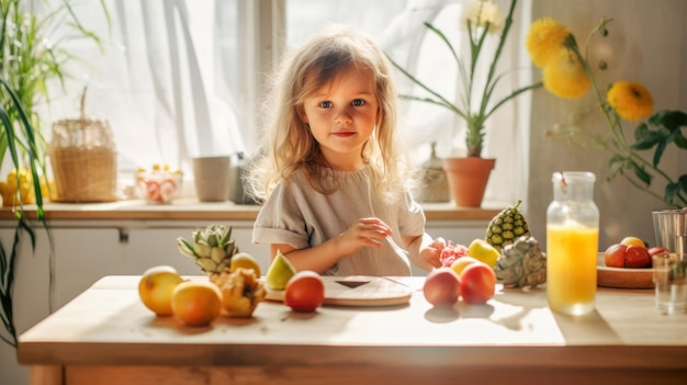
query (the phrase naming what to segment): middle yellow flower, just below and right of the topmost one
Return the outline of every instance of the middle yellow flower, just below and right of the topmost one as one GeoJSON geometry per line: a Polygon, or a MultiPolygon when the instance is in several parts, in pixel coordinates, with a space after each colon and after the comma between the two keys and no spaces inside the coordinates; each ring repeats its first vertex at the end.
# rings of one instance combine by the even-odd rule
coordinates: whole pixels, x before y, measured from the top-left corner
{"type": "Polygon", "coordinates": [[[544,88],[559,98],[579,98],[589,89],[589,77],[577,56],[567,48],[559,49],[543,72],[544,88]]]}

